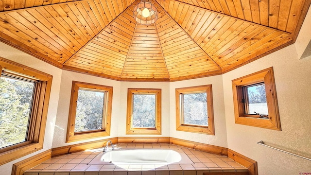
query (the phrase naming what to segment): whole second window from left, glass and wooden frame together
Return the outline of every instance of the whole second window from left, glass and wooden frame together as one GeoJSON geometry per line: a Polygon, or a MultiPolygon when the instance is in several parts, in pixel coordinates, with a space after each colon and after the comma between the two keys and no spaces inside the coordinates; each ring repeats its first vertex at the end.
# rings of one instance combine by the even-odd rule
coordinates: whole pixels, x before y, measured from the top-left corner
{"type": "Polygon", "coordinates": [[[66,142],[110,135],[113,87],[72,82],[66,142]]]}

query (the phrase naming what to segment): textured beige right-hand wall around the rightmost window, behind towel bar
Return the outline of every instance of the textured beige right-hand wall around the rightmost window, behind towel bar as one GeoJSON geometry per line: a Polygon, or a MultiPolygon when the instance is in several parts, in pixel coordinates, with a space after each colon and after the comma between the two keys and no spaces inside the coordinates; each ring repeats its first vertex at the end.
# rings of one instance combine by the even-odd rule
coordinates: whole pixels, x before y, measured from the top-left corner
{"type": "MultiPolygon", "coordinates": [[[[311,36],[309,25],[303,25],[309,27],[305,37],[311,36]]],[[[310,160],[257,144],[263,140],[311,158],[311,57],[299,60],[296,47],[305,45],[298,42],[223,75],[228,148],[258,161],[259,175],[311,173],[310,160]],[[235,124],[231,81],[269,67],[274,68],[282,131],[235,124]]]]}

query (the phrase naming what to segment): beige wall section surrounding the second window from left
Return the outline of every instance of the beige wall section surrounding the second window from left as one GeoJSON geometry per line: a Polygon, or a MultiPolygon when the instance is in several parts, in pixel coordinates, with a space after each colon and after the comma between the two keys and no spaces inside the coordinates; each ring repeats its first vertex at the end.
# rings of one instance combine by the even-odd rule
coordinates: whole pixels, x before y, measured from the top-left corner
{"type": "Polygon", "coordinates": [[[109,80],[109,79],[104,79],[104,78],[91,76],[87,74],[63,70],[62,77],[61,77],[61,86],[60,86],[61,88],[59,92],[58,111],[57,111],[57,118],[55,122],[55,131],[54,131],[54,138],[52,142],[52,148],[81,143],[81,142],[117,137],[118,130],[116,128],[118,128],[118,125],[119,125],[118,116],[120,116],[119,115],[120,84],[121,83],[119,81],[115,81],[115,80],[109,80]],[[92,84],[97,84],[97,85],[105,85],[105,86],[113,87],[110,136],[65,143],[66,134],[67,134],[67,123],[68,123],[68,116],[69,116],[69,104],[70,104],[72,81],[80,81],[80,82],[85,82],[85,83],[92,83],[92,84]]]}

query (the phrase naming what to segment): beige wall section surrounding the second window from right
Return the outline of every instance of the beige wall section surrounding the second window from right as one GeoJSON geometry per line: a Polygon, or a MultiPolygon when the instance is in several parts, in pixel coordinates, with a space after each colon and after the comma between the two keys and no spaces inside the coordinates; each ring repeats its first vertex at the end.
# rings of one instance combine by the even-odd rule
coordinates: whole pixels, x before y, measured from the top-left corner
{"type": "Polygon", "coordinates": [[[177,139],[196,141],[216,146],[227,147],[226,124],[225,124],[225,105],[222,75],[197,78],[192,80],[178,81],[170,83],[170,136],[177,139]],[[214,110],[214,126],[215,135],[206,135],[198,133],[190,133],[184,131],[176,131],[176,105],[175,105],[175,89],[212,85],[213,93],[213,110],[214,110]]]}

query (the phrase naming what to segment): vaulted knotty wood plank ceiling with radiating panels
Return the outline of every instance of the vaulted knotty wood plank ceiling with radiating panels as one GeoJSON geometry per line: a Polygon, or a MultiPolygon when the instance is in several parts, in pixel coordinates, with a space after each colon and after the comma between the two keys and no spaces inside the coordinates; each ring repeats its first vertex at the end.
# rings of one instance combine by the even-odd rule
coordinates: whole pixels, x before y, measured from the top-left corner
{"type": "Polygon", "coordinates": [[[222,74],[294,43],[311,0],[0,0],[0,40],[64,70],[119,81],[222,74]]]}

